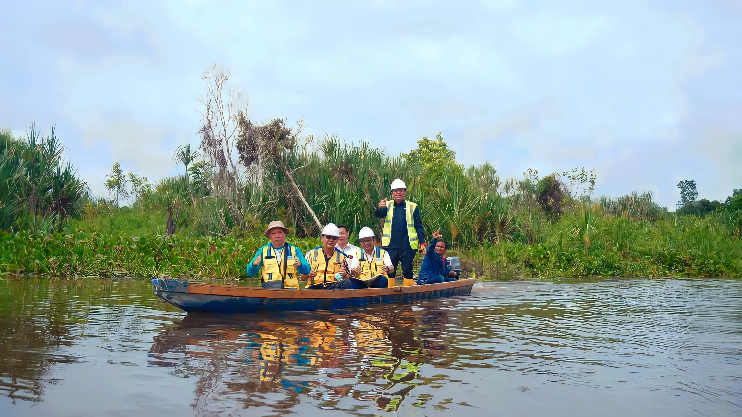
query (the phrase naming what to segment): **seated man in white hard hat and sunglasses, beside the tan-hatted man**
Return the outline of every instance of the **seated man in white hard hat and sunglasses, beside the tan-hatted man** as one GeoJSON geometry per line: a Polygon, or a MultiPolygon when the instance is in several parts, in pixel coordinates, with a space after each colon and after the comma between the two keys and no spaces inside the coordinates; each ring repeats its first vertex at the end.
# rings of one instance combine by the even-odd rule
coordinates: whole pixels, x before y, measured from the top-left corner
{"type": "Polygon", "coordinates": [[[307,289],[352,289],[348,280],[347,255],[336,248],[340,237],[338,226],[327,224],[322,229],[322,246],[306,252],[309,262],[309,274],[302,275],[308,279],[307,289]]]}

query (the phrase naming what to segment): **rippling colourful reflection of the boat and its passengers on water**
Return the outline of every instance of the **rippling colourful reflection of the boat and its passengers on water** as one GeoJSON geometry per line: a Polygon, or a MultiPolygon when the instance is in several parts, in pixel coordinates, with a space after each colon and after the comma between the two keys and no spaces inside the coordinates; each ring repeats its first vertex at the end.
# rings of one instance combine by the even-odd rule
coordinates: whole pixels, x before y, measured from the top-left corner
{"type": "MultiPolygon", "coordinates": [[[[446,348],[441,329],[448,322],[442,301],[427,309],[394,312],[188,315],[154,338],[148,363],[174,375],[198,378],[197,413],[235,407],[289,410],[301,396],[336,409],[343,398],[373,401],[397,410],[415,387],[438,384],[419,375],[422,364],[438,361],[446,348]]],[[[443,375],[444,376],[444,375],[443,375]]],[[[354,401],[354,402],[355,402],[354,401]]],[[[417,404],[424,404],[421,398],[417,404]]]]}

